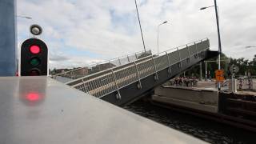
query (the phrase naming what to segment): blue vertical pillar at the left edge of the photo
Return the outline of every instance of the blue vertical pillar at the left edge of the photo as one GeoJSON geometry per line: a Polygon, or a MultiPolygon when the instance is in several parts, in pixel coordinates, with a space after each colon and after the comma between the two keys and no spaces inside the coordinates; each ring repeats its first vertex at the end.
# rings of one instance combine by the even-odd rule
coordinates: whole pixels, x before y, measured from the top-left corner
{"type": "Polygon", "coordinates": [[[17,72],[16,1],[0,1],[0,76],[17,72]]]}

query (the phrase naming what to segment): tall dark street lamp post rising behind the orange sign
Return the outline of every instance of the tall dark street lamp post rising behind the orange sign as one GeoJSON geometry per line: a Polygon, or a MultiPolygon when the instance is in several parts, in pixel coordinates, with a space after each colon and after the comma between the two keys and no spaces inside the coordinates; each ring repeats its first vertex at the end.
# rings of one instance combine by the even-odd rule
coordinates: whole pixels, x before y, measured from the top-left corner
{"type": "MultiPolygon", "coordinates": [[[[217,0],[214,0],[214,6],[202,7],[200,10],[205,10],[207,8],[214,7],[217,21],[217,30],[218,30],[218,70],[221,70],[221,54],[222,54],[222,41],[221,34],[219,30],[219,19],[218,19],[218,6],[217,0]]],[[[221,90],[220,82],[218,82],[218,90],[221,90]]]]}

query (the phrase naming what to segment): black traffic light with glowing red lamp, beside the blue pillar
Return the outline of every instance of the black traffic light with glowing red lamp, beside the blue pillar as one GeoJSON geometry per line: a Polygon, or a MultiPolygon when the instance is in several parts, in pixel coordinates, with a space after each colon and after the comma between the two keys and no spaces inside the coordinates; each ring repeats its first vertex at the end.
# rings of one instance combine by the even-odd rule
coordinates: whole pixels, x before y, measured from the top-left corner
{"type": "Polygon", "coordinates": [[[21,76],[47,75],[48,48],[38,38],[29,38],[22,43],[21,76]]]}

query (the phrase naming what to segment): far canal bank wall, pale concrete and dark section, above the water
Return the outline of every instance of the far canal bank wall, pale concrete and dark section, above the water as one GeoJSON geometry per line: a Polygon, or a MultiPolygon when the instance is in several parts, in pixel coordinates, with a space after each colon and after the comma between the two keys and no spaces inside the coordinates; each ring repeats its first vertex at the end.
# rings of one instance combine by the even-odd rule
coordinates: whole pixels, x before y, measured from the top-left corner
{"type": "Polygon", "coordinates": [[[256,132],[256,92],[218,92],[214,85],[209,86],[210,82],[202,83],[197,87],[158,86],[150,102],[256,132]]]}

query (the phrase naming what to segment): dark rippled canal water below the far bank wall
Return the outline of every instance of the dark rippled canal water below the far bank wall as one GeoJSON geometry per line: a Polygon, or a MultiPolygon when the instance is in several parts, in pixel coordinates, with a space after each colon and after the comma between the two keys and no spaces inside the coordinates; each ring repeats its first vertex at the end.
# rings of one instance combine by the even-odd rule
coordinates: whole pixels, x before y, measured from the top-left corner
{"type": "Polygon", "coordinates": [[[150,102],[138,101],[124,108],[206,142],[223,144],[256,143],[256,134],[252,132],[154,106],[150,102]]]}

